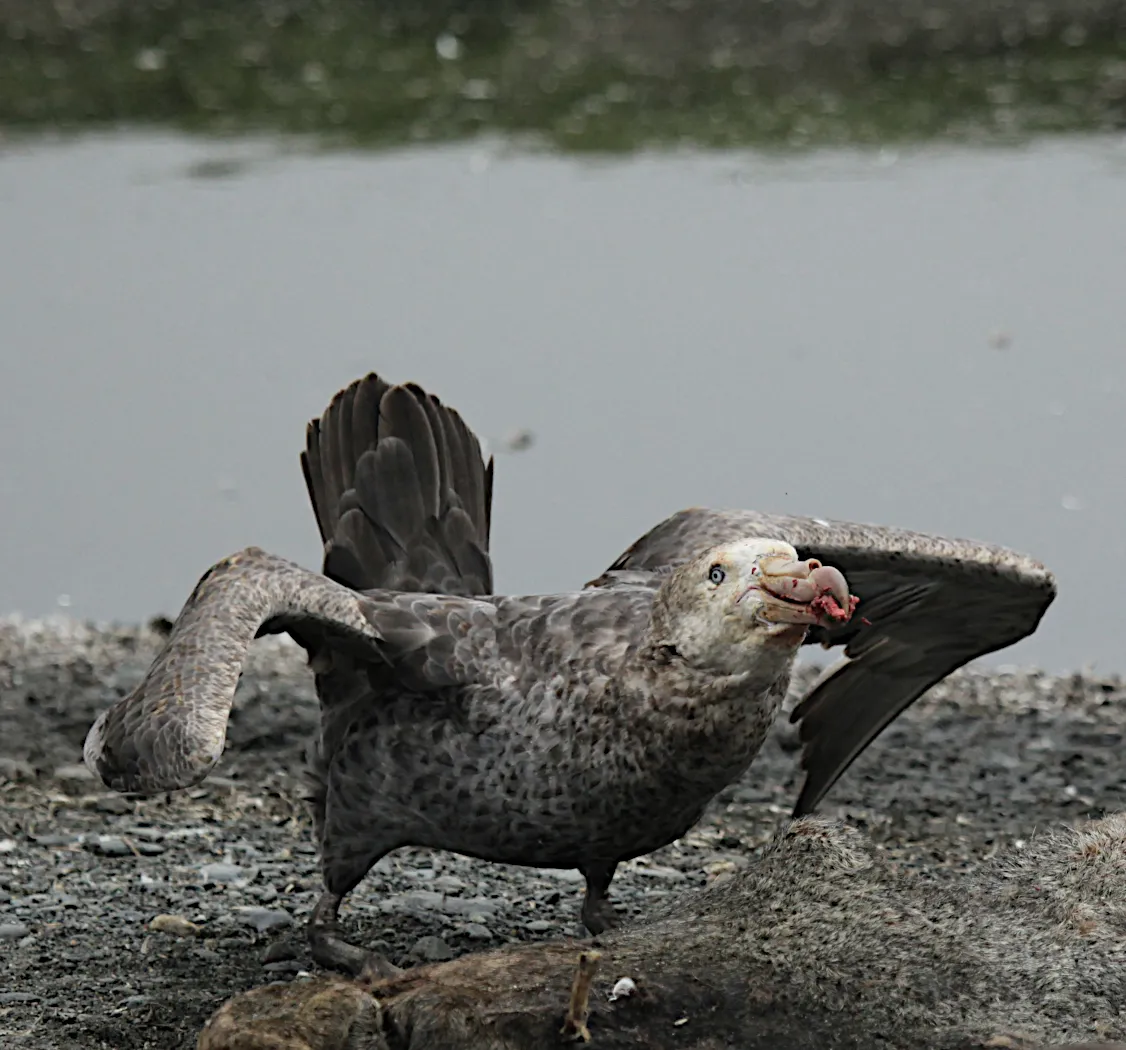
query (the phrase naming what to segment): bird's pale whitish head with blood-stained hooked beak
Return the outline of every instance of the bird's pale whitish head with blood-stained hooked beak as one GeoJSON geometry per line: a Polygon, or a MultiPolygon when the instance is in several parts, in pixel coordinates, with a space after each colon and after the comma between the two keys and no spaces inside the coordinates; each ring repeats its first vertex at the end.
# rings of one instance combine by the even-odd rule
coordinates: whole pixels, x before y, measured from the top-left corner
{"type": "Polygon", "coordinates": [[[763,650],[793,656],[811,625],[847,622],[858,599],[844,576],[787,542],[740,539],[674,569],[654,609],[654,640],[689,665],[740,674],[763,650]]]}

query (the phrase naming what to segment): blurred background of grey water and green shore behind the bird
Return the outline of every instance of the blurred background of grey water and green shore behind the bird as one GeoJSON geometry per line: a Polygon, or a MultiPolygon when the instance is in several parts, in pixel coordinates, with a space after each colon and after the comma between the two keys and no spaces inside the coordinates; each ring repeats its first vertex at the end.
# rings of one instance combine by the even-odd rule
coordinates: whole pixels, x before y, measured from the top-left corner
{"type": "Polygon", "coordinates": [[[690,504],[1004,544],[1126,670],[1126,0],[0,0],[0,616],[319,567],[375,369],[503,591],[690,504]]]}

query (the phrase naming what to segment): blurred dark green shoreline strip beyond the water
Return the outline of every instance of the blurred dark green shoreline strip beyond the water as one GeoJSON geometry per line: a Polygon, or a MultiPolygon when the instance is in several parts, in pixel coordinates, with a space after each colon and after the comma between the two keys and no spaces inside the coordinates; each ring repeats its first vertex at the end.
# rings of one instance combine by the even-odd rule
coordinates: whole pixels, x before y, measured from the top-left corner
{"type": "Polygon", "coordinates": [[[941,32],[913,0],[74,6],[0,0],[0,127],[622,151],[1126,126],[1126,0],[946,0],[941,32]]]}

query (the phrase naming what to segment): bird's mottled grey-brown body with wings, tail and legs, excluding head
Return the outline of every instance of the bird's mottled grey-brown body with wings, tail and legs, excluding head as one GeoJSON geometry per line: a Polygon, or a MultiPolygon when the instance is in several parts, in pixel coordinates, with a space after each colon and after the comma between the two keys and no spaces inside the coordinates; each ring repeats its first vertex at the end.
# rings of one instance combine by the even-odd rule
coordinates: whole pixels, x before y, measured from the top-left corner
{"type": "Polygon", "coordinates": [[[302,465],[323,575],[253,548],[218,563],[86,755],[118,790],[197,782],[222,753],[247,647],[293,635],[322,703],[314,949],[320,936],[319,958],[349,968],[327,931],[391,850],[578,868],[597,932],[615,865],[679,837],[742,774],[802,639],[700,641],[714,625],[691,620],[694,587],[712,548],[792,542],[842,568],[872,621],[810,630],[846,643],[849,663],[799,709],[803,811],[928,685],[1033,630],[1054,595],[1043,566],[1000,548],[705,510],[659,524],[581,591],[493,595],[491,460],[438,398],[375,375],[310,424],[302,465]]]}

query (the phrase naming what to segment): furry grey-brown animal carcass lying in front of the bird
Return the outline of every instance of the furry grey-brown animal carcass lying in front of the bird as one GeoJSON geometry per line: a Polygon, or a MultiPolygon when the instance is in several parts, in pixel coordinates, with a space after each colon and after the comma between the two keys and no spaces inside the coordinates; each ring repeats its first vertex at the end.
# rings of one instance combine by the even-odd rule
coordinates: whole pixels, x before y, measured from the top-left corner
{"type": "MultiPolygon", "coordinates": [[[[953,887],[856,831],[789,824],[745,871],[598,943],[598,1050],[1124,1050],[1126,815],[1040,834],[953,887]],[[637,991],[610,1003],[619,977],[637,991]],[[1085,1042],[1083,1040],[1087,1040],[1085,1042]]],[[[199,1050],[540,1050],[589,942],[518,945],[387,980],[236,996],[199,1050]]]]}

